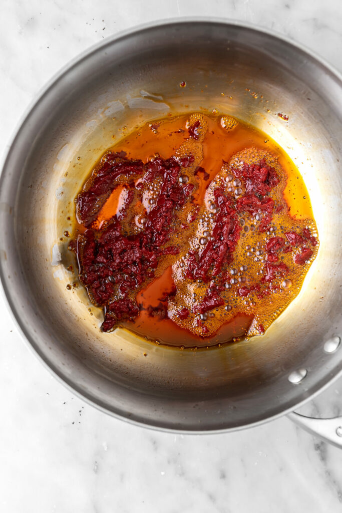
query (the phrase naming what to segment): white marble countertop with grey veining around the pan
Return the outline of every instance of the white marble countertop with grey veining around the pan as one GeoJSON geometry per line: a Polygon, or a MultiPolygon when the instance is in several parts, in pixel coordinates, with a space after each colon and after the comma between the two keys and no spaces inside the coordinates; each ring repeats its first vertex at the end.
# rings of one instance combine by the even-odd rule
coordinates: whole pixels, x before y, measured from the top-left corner
{"type": "MultiPolygon", "coordinates": [[[[339,0],[2,0],[0,153],[70,58],[153,19],[212,15],[289,35],[342,70],[339,0]]],[[[88,406],[27,349],[0,299],[0,511],[342,511],[342,451],[283,418],[215,436],[149,431],[88,406]]],[[[342,380],[303,411],[342,414],[342,380]]]]}

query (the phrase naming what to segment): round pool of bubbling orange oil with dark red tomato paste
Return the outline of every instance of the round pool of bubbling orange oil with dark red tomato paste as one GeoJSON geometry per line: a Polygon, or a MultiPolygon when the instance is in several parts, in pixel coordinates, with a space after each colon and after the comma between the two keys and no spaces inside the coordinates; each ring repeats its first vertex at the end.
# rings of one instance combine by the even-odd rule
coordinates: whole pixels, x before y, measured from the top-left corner
{"type": "Polygon", "coordinates": [[[75,199],[71,248],[102,330],[179,346],[263,334],[317,254],[308,198],[287,155],[230,116],[140,127],[75,199]]]}

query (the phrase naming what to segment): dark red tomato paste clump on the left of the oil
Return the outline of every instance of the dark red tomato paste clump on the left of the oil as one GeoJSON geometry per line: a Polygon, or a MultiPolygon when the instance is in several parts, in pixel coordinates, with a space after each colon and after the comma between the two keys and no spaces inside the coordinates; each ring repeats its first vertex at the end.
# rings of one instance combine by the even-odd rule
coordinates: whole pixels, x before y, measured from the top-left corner
{"type": "MultiPolygon", "coordinates": [[[[115,327],[118,321],[132,320],[138,314],[138,306],[132,291],[138,289],[147,278],[153,278],[154,269],[160,257],[177,254],[178,248],[166,246],[172,233],[172,223],[177,210],[189,197],[189,187],[182,185],[178,177],[181,168],[186,168],[191,158],[164,160],[160,157],[153,162],[129,161],[122,154],[110,155],[101,167],[88,190],[77,198],[77,216],[86,226],[95,219],[98,194],[102,200],[108,197],[115,187],[118,176],[140,176],[134,193],[142,183],[151,183],[162,178],[155,206],[147,215],[145,229],[133,235],[123,233],[118,215],[114,215],[102,231],[88,228],[77,240],[76,253],[81,264],[81,279],[91,298],[97,305],[106,306],[104,331],[115,327]],[[102,198],[103,196],[103,198],[102,198]]],[[[120,215],[124,215],[120,210],[120,215]]],[[[184,317],[185,311],[182,312],[184,317]]]]}

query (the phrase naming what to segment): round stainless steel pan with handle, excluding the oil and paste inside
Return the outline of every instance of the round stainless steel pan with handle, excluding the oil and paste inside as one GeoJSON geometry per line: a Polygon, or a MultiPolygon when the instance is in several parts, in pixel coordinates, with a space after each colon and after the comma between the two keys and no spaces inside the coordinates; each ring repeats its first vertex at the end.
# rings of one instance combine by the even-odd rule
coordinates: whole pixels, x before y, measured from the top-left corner
{"type": "MultiPolygon", "coordinates": [[[[25,338],[75,392],[131,422],[230,431],[294,410],[342,368],[341,141],[341,77],[270,32],[185,19],[92,48],[41,94],[1,177],[1,280],[25,338]],[[214,108],[264,130],[304,177],[320,246],[303,288],[263,337],[222,348],[182,351],[125,330],[102,333],[102,312],[81,286],[67,288],[76,282],[64,235],[73,199],[123,131],[214,108]]],[[[342,418],[291,418],[342,446],[342,418]]]]}

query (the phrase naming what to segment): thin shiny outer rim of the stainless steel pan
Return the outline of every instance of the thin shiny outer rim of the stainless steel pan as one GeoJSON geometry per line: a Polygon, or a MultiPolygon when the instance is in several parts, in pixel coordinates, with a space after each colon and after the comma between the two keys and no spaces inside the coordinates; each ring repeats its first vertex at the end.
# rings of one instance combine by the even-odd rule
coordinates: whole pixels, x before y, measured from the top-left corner
{"type": "MultiPolygon", "coordinates": [[[[277,32],[275,32],[273,30],[258,27],[251,23],[232,21],[230,19],[217,18],[217,17],[207,18],[204,16],[197,16],[197,17],[187,16],[187,17],[182,17],[182,18],[161,19],[159,21],[153,21],[153,22],[142,24],[142,25],[138,25],[133,28],[130,28],[130,29],[127,29],[124,31],[120,31],[117,34],[111,35],[111,36],[107,37],[105,40],[103,40],[95,45],[92,45],[90,48],[88,48],[84,52],[75,56],[69,63],[66,64],[66,66],[64,66],[57,73],[55,73],[50,78],[50,80],[47,82],[47,84],[35,95],[32,102],[30,103],[30,105],[28,106],[25,113],[23,114],[23,116],[21,117],[21,119],[19,120],[19,122],[17,124],[17,127],[14,131],[14,135],[12,136],[12,139],[9,143],[9,148],[8,148],[7,154],[5,151],[4,163],[2,165],[2,172],[0,175],[0,190],[2,189],[3,182],[5,179],[8,161],[10,159],[10,156],[15,151],[15,146],[17,144],[17,141],[21,137],[22,130],[24,129],[26,124],[29,122],[30,116],[33,113],[33,111],[35,111],[35,109],[37,108],[39,103],[42,102],[45,95],[47,95],[50,91],[53,90],[53,88],[56,86],[56,84],[58,83],[59,80],[61,80],[65,75],[67,75],[75,66],[77,66],[81,62],[87,60],[91,55],[95,54],[97,51],[103,50],[104,48],[106,48],[106,46],[111,46],[118,41],[122,41],[125,38],[129,38],[133,34],[149,31],[150,29],[160,28],[163,26],[171,27],[171,26],[176,26],[176,25],[183,25],[186,23],[221,25],[221,26],[225,26],[227,28],[237,27],[237,28],[252,30],[252,31],[255,31],[258,33],[263,33],[263,34],[266,34],[268,36],[275,38],[276,40],[281,40],[284,43],[286,43],[287,45],[289,45],[290,47],[294,47],[295,49],[303,52],[304,54],[309,55],[313,61],[315,61],[316,63],[319,64],[319,66],[323,69],[323,71],[329,72],[335,78],[335,80],[337,82],[339,82],[339,86],[342,88],[342,74],[338,70],[336,70],[330,63],[325,61],[322,57],[318,56],[315,52],[308,49],[304,45],[301,45],[297,42],[291,41],[290,38],[288,38],[282,34],[278,34],[277,32]]],[[[3,216],[6,214],[1,213],[0,215],[3,216]]],[[[271,420],[280,418],[280,417],[286,415],[287,413],[293,411],[294,409],[297,409],[299,406],[305,404],[309,400],[312,400],[317,394],[319,394],[325,388],[330,386],[330,384],[335,379],[337,379],[340,374],[340,370],[338,370],[338,367],[336,367],[336,373],[335,373],[335,369],[333,369],[332,370],[333,375],[331,376],[331,378],[323,386],[321,386],[315,392],[310,394],[309,397],[305,398],[302,401],[299,401],[293,407],[287,408],[285,410],[282,410],[282,411],[276,413],[273,416],[265,417],[259,421],[251,422],[249,424],[227,427],[227,428],[220,428],[220,429],[213,428],[213,429],[208,429],[208,430],[203,430],[203,429],[192,430],[192,429],[177,429],[174,427],[165,427],[165,425],[163,425],[163,422],[160,422],[160,425],[159,425],[158,422],[157,423],[156,422],[149,423],[148,419],[146,419],[145,421],[137,420],[133,416],[129,417],[127,413],[125,415],[125,412],[119,413],[118,409],[117,409],[117,411],[113,411],[113,410],[109,409],[108,407],[106,407],[105,403],[103,401],[96,399],[94,397],[94,394],[88,393],[81,386],[75,385],[72,382],[72,380],[70,380],[66,376],[64,376],[63,372],[61,370],[59,370],[54,365],[53,361],[50,360],[49,358],[47,358],[45,354],[43,354],[43,351],[41,351],[39,349],[34,338],[30,336],[28,330],[26,329],[25,323],[23,323],[21,321],[19,312],[16,309],[16,306],[14,304],[10,288],[6,285],[5,276],[4,276],[4,268],[3,268],[1,261],[0,261],[0,282],[2,283],[4,298],[6,298],[5,303],[7,304],[10,314],[12,315],[12,318],[15,321],[15,324],[19,330],[19,333],[21,334],[22,338],[25,340],[26,344],[30,347],[30,349],[36,354],[38,359],[41,360],[41,362],[44,364],[45,368],[49,369],[49,371],[52,372],[53,376],[57,379],[57,381],[63,383],[67,387],[67,389],[69,389],[70,391],[75,393],[77,397],[82,398],[88,404],[95,406],[98,410],[103,411],[103,412],[113,416],[116,419],[124,420],[126,422],[129,422],[130,424],[137,425],[140,427],[155,429],[155,430],[164,431],[164,432],[182,433],[182,434],[189,434],[189,435],[190,434],[192,434],[192,435],[194,435],[194,434],[208,435],[208,434],[216,434],[216,433],[225,433],[225,432],[230,432],[230,431],[238,431],[238,430],[242,430],[242,429],[246,429],[246,428],[256,427],[258,425],[264,424],[271,420]]]]}

